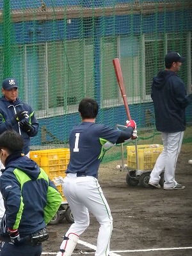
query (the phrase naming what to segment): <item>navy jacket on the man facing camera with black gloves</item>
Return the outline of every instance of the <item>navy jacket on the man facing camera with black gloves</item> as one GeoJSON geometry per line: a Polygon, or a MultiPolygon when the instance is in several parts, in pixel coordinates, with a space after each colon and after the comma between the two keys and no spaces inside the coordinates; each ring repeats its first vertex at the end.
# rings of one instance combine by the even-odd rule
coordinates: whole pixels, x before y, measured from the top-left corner
{"type": "Polygon", "coordinates": [[[34,137],[38,132],[38,121],[35,118],[35,113],[29,104],[22,102],[19,98],[15,102],[10,102],[5,97],[0,98],[0,134],[8,129],[13,129],[18,132],[24,140],[24,154],[28,154],[30,137],[34,137]],[[25,120],[33,127],[31,131],[22,131],[19,123],[15,120],[14,116],[19,111],[28,111],[28,118],[25,120]]]}

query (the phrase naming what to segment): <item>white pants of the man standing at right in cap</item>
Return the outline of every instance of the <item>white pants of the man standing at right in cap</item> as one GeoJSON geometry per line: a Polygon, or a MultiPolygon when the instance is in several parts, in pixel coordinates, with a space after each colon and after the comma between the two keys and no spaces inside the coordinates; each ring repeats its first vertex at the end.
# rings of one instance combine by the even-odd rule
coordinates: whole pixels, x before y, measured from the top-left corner
{"type": "Polygon", "coordinates": [[[150,173],[150,181],[154,184],[158,184],[160,174],[164,170],[164,188],[170,188],[177,185],[175,180],[175,168],[184,132],[161,132],[161,136],[164,149],[157,158],[154,169],[150,173]]]}

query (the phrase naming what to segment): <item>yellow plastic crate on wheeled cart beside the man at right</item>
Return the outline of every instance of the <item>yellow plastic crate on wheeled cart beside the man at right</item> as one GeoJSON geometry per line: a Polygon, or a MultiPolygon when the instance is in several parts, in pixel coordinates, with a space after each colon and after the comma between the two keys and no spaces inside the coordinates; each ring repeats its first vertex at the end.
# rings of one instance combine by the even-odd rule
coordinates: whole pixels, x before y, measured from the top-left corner
{"type": "MultiPolygon", "coordinates": [[[[163,145],[138,145],[138,170],[152,170],[157,157],[163,151],[163,145]]],[[[127,168],[136,170],[136,147],[127,146],[127,168]]]]}

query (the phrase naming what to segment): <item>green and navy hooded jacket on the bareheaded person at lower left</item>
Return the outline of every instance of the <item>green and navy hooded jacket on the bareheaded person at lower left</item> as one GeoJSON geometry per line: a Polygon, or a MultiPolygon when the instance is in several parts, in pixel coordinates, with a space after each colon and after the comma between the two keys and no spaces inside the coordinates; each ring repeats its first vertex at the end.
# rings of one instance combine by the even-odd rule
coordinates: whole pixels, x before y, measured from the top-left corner
{"type": "Polygon", "coordinates": [[[21,155],[17,152],[7,157],[0,177],[5,207],[1,234],[6,234],[7,228],[17,228],[24,237],[46,227],[58,211],[62,196],[47,173],[21,155]]]}

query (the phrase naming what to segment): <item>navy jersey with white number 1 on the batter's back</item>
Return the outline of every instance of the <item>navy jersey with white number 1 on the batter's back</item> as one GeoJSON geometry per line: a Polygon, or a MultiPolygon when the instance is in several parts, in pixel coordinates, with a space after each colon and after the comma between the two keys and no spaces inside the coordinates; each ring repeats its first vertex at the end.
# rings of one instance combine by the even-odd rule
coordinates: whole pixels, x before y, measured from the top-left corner
{"type": "Polygon", "coordinates": [[[132,127],[122,132],[104,124],[81,122],[69,136],[70,161],[66,173],[80,172],[93,177],[98,176],[102,145],[106,142],[122,143],[132,136],[132,127]]]}

